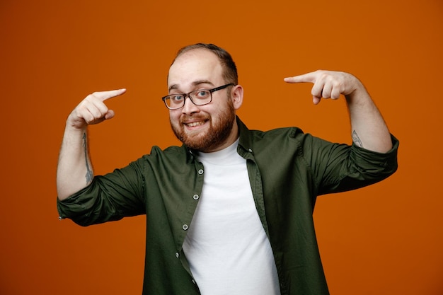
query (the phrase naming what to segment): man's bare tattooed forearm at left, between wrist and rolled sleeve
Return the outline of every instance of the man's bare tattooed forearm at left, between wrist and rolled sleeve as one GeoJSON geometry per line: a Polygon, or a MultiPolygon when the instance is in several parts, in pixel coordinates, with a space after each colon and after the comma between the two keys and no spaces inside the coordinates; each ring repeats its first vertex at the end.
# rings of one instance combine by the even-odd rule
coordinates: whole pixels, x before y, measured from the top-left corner
{"type": "Polygon", "coordinates": [[[88,153],[86,128],[64,132],[57,166],[57,195],[66,199],[91,183],[93,169],[88,153]]]}

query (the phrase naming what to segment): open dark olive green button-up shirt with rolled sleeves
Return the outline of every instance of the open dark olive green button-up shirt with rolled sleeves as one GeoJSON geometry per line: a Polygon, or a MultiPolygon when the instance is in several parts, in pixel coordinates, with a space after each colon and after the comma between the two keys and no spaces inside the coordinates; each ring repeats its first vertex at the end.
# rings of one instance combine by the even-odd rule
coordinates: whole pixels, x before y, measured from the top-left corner
{"type": "MultiPolygon", "coordinates": [[[[393,149],[381,154],[333,144],[297,127],[262,132],[237,122],[237,151],[246,159],[281,294],[328,294],[313,226],[316,197],[364,187],[394,173],[397,139],[391,137],[393,149]]],[[[57,208],[62,219],[81,226],[146,214],[143,294],[200,294],[182,245],[204,177],[205,167],[186,146],[154,146],[151,154],[57,200],[57,208]]]]}

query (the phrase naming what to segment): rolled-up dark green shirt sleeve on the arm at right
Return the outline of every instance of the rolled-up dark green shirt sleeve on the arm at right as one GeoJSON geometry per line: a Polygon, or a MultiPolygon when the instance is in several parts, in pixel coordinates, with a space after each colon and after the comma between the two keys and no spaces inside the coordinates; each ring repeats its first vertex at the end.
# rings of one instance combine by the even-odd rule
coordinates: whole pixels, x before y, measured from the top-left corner
{"type": "Polygon", "coordinates": [[[304,141],[304,157],[309,161],[318,195],[355,190],[388,178],[398,168],[398,139],[386,153],[369,151],[355,144],[332,144],[310,137],[304,141]]]}

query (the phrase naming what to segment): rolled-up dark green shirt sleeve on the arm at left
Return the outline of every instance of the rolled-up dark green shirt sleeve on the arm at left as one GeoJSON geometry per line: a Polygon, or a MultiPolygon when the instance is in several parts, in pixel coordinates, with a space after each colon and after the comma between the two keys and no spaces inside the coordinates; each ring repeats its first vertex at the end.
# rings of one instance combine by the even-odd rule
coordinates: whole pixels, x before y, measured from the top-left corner
{"type": "Polygon", "coordinates": [[[88,226],[145,214],[143,158],[125,168],[94,177],[92,183],[67,199],[57,199],[60,218],[88,226]]]}

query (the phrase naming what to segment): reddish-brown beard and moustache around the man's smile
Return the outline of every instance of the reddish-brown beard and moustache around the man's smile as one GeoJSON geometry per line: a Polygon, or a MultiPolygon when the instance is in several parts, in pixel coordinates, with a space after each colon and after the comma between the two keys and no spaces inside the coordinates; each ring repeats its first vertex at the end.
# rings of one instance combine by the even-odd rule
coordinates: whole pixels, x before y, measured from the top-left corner
{"type": "Polygon", "coordinates": [[[178,140],[183,142],[185,146],[196,151],[209,152],[214,151],[219,146],[222,146],[226,139],[232,132],[234,126],[234,120],[236,120],[235,109],[231,99],[227,100],[227,107],[217,115],[217,123],[212,121],[212,117],[209,115],[200,117],[195,116],[202,120],[209,122],[209,129],[205,132],[199,132],[198,134],[192,134],[192,132],[186,132],[183,122],[185,119],[189,119],[192,116],[180,117],[178,126],[174,126],[171,122],[171,128],[176,134],[178,140]]]}

